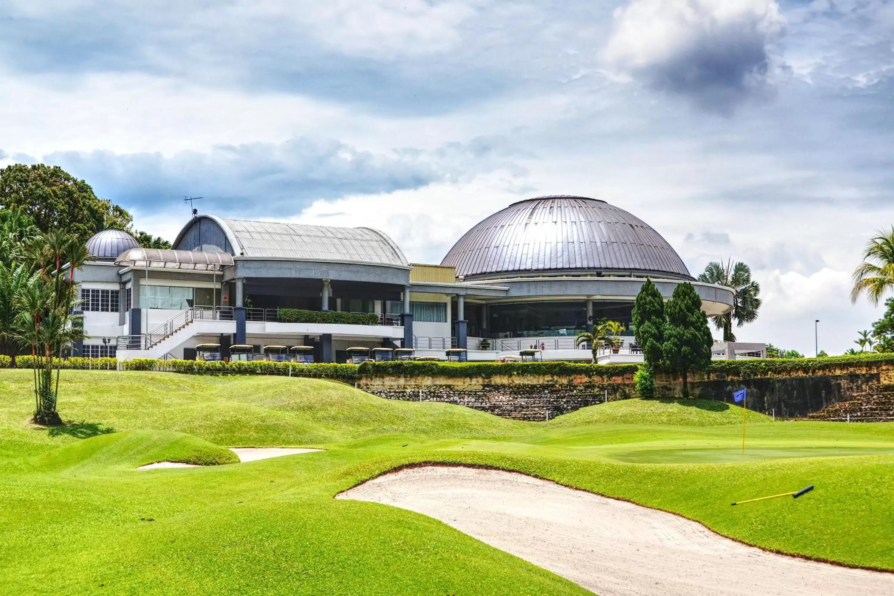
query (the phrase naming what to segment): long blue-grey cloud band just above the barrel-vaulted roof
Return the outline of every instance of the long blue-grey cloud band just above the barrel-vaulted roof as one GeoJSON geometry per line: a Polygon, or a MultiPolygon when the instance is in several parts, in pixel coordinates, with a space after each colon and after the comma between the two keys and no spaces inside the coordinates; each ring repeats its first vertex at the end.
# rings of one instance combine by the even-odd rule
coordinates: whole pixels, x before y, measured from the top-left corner
{"type": "MultiPolygon", "coordinates": [[[[499,139],[490,141],[499,147],[499,139]]],[[[46,164],[60,165],[87,180],[97,196],[138,211],[164,210],[184,195],[206,197],[225,214],[288,216],[316,199],[418,189],[441,180],[515,167],[480,143],[451,144],[434,152],[412,149],[374,154],[335,140],[297,138],[282,144],[220,145],[208,152],[117,154],[56,152],[46,164]]],[[[21,161],[34,161],[21,160],[21,161]]]]}

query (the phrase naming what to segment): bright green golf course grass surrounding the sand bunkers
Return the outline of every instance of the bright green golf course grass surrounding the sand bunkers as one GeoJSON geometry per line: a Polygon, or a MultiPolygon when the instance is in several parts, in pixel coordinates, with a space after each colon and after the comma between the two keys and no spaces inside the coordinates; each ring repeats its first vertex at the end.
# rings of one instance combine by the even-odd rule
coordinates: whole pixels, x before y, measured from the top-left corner
{"type": "Polygon", "coordinates": [[[561,594],[573,583],[398,508],[333,496],[395,466],[498,466],[767,549],[894,569],[894,424],[631,399],[549,423],[337,382],[65,371],[60,428],[0,371],[0,593],[561,594]],[[244,464],[225,447],[316,447],[244,464]],[[162,460],[198,468],[137,471],[162,460]],[[814,484],[800,499],[730,503],[814,484]]]}

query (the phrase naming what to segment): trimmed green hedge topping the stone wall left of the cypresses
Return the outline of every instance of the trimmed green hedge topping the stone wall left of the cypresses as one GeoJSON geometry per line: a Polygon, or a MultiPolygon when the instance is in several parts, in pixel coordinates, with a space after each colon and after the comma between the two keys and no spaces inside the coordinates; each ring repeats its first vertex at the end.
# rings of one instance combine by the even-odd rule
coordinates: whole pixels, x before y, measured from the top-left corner
{"type": "Polygon", "coordinates": [[[619,377],[636,374],[639,365],[587,365],[570,362],[392,362],[368,361],[359,374],[368,376],[433,376],[488,379],[498,375],[549,374],[552,376],[619,377]]]}

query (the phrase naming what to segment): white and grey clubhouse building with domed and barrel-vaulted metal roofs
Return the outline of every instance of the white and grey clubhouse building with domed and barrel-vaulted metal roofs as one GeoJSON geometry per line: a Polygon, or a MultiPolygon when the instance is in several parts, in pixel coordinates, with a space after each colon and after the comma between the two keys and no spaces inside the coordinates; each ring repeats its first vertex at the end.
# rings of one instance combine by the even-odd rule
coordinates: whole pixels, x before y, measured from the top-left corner
{"type": "MultiPolygon", "coordinates": [[[[695,281],[648,224],[586,197],[510,205],[441,264],[410,264],[370,228],[207,214],[186,222],[171,249],[140,248],[118,230],[99,232],[88,248],[93,260],[76,279],[89,337],[74,351],[89,357],[189,359],[197,346],[219,344],[223,357],[235,345],[305,346],[317,362],[344,362],[355,347],[442,358],[465,348],[470,360],[534,348],[547,359],[589,360],[575,335],[603,318],[627,326],[646,278],[666,298],[691,282],[708,315],[733,301],[733,290],[695,281]]],[[[618,343],[611,361],[637,361],[632,332],[618,343]]]]}

